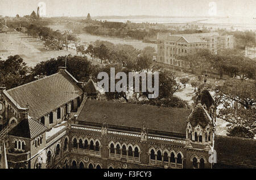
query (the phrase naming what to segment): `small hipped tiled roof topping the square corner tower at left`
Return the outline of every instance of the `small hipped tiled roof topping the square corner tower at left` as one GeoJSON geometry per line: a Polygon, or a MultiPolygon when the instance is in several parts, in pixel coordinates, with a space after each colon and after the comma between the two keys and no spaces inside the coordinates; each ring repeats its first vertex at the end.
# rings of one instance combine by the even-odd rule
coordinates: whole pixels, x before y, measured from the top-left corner
{"type": "Polygon", "coordinates": [[[19,124],[17,124],[11,131],[9,135],[17,137],[26,137],[33,139],[34,137],[40,135],[47,130],[47,127],[42,123],[39,123],[33,118],[23,119],[19,124]]]}

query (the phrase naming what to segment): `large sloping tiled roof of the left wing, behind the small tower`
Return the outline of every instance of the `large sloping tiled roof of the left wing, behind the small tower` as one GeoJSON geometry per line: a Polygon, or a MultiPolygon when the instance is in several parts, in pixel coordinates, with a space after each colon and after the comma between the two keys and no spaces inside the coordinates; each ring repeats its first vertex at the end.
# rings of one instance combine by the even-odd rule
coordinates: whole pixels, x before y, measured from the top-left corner
{"type": "Polygon", "coordinates": [[[79,97],[82,90],[67,73],[61,72],[7,90],[7,93],[20,107],[26,108],[28,103],[28,115],[38,119],[79,97]]]}

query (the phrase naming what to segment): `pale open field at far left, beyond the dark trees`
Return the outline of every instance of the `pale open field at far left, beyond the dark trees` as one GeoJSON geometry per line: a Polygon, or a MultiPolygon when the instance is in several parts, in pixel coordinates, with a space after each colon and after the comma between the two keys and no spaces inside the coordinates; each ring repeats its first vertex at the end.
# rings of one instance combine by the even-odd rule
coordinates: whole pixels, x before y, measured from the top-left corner
{"type": "Polygon", "coordinates": [[[42,41],[22,34],[0,34],[0,57],[6,60],[8,56],[20,55],[28,66],[35,66],[40,61],[68,55],[69,51],[47,51],[42,41]]]}

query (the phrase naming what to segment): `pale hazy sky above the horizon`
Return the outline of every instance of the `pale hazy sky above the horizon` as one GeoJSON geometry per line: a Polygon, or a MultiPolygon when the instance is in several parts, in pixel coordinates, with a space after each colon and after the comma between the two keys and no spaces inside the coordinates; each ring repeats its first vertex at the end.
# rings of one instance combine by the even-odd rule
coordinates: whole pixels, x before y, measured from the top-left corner
{"type": "Polygon", "coordinates": [[[0,0],[0,15],[28,15],[36,12],[40,2],[46,5],[48,17],[86,16],[88,12],[91,16],[256,17],[255,0],[0,0]]]}

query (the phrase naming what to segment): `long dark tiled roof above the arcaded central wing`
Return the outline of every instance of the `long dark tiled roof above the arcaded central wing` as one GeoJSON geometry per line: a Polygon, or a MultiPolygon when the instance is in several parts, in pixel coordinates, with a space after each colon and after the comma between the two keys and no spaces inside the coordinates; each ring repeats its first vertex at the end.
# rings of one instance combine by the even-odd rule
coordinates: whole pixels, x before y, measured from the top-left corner
{"type": "Polygon", "coordinates": [[[185,137],[186,120],[191,110],[151,105],[117,103],[87,99],[78,119],[80,124],[102,125],[104,116],[109,128],[141,132],[143,122],[148,133],[185,137]]]}

